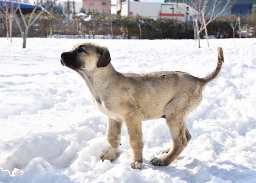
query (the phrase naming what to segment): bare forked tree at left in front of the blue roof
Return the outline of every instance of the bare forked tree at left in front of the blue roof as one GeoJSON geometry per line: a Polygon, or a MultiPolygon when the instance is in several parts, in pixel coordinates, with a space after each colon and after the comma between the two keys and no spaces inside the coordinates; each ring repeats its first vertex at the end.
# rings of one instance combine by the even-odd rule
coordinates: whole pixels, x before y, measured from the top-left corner
{"type": "Polygon", "coordinates": [[[38,18],[41,16],[42,13],[44,13],[44,11],[49,8],[49,6],[51,6],[53,3],[55,3],[57,0],[53,0],[52,3],[49,3],[47,5],[47,7],[42,8],[42,10],[36,14],[36,11],[38,9],[38,7],[41,5],[41,3],[43,2],[42,0],[39,0],[38,3],[35,3],[34,1],[34,4],[35,4],[35,8],[33,9],[32,13],[29,15],[29,19],[28,21],[26,21],[22,11],[21,11],[21,8],[20,8],[20,2],[18,0],[16,0],[16,3],[17,3],[17,6],[18,6],[18,10],[20,12],[20,17],[21,17],[21,20],[23,21],[23,24],[25,26],[25,31],[23,31],[23,28],[20,24],[20,21],[18,20],[18,17],[17,17],[17,14],[15,14],[15,21],[20,29],[20,34],[23,38],[23,46],[22,48],[26,48],[26,39],[28,37],[28,34],[29,34],[29,28],[38,20],[38,18]]]}

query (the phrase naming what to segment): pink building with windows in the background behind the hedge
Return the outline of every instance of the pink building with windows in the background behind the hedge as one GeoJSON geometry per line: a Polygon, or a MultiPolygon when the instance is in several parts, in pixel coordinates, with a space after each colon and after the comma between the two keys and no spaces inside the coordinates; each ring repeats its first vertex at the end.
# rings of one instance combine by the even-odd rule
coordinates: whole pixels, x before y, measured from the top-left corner
{"type": "Polygon", "coordinates": [[[86,12],[90,9],[90,11],[100,10],[111,14],[111,0],[83,0],[83,8],[86,12]]]}

